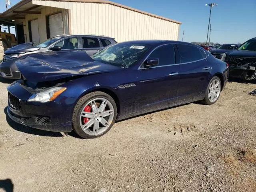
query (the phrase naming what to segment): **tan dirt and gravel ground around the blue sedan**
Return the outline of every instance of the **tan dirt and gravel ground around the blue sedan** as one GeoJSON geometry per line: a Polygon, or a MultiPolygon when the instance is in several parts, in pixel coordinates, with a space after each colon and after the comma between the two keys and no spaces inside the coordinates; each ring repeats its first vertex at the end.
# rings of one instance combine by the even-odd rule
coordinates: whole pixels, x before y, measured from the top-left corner
{"type": "Polygon", "coordinates": [[[12,122],[7,86],[0,83],[0,191],[256,191],[255,82],[229,82],[212,106],[117,122],[93,140],[12,122]]]}

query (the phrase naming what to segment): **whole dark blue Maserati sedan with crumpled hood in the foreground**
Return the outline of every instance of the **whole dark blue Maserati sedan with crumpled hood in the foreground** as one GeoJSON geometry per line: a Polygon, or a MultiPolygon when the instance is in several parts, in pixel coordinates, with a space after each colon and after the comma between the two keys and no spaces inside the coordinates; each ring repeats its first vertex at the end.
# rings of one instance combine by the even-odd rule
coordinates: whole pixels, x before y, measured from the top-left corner
{"type": "Polygon", "coordinates": [[[228,78],[228,65],[203,48],[167,40],[123,42],[91,57],[37,54],[16,65],[24,79],[8,86],[10,118],[83,138],[139,114],[197,100],[214,104],[228,78]]]}

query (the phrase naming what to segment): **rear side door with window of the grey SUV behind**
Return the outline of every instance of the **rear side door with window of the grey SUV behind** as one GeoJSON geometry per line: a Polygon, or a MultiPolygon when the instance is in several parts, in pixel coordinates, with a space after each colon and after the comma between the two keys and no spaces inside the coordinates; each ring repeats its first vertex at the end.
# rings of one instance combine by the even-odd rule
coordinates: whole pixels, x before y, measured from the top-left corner
{"type": "Polygon", "coordinates": [[[81,37],[80,47],[80,50],[86,51],[89,56],[103,49],[98,38],[86,36],[81,37]]]}

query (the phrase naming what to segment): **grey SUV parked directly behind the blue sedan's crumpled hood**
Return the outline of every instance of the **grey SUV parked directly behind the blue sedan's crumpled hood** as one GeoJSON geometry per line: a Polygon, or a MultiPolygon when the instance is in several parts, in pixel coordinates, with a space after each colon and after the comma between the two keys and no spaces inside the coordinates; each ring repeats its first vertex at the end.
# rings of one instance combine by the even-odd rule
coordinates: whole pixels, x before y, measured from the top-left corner
{"type": "Polygon", "coordinates": [[[31,54],[47,54],[47,52],[53,51],[85,51],[90,56],[113,44],[116,44],[114,38],[85,34],[59,35],[34,46],[32,43],[19,44],[4,52],[5,56],[0,64],[0,74],[4,78],[20,79],[20,71],[15,62],[31,54]]]}

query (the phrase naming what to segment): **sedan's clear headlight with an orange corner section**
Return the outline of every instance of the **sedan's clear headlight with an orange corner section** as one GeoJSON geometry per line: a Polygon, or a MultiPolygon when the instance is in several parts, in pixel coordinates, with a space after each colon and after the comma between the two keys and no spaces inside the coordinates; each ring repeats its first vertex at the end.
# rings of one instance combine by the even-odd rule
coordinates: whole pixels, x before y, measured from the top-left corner
{"type": "Polygon", "coordinates": [[[50,88],[46,91],[42,91],[40,93],[32,95],[28,102],[34,101],[34,102],[49,102],[54,100],[56,97],[58,97],[62,92],[64,92],[67,88],[66,87],[54,87],[50,88]]]}

